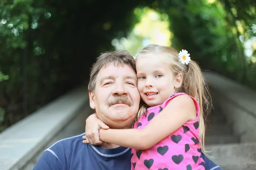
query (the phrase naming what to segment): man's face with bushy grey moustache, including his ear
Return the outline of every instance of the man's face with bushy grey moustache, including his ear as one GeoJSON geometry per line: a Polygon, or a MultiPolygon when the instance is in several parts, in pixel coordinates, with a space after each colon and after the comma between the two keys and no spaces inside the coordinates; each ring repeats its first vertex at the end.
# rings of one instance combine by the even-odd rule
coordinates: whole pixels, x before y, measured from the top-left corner
{"type": "Polygon", "coordinates": [[[111,128],[131,128],[140,94],[136,73],[129,65],[107,64],[96,77],[94,93],[89,94],[90,107],[105,124],[111,128]]]}

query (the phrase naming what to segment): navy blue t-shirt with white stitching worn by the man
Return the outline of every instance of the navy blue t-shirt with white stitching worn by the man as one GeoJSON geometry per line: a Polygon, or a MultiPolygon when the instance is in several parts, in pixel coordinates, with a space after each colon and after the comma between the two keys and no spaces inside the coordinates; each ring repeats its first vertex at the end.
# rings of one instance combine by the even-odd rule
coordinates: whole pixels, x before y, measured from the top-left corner
{"type": "MultiPolygon", "coordinates": [[[[52,144],[44,151],[33,170],[131,170],[130,148],[107,149],[84,144],[84,134],[52,144]]],[[[203,158],[206,170],[221,170],[212,161],[203,158]]]]}

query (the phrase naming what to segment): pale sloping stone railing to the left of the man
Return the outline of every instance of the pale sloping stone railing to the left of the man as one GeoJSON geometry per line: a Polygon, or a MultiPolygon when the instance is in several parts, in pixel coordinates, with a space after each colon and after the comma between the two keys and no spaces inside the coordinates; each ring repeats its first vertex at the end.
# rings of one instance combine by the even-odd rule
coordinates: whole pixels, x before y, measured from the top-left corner
{"type": "Polygon", "coordinates": [[[86,117],[79,118],[80,130],[72,131],[78,125],[73,119],[79,113],[80,117],[90,114],[88,99],[85,88],[75,89],[0,133],[0,169],[32,170],[49,144],[83,133],[86,117]]]}

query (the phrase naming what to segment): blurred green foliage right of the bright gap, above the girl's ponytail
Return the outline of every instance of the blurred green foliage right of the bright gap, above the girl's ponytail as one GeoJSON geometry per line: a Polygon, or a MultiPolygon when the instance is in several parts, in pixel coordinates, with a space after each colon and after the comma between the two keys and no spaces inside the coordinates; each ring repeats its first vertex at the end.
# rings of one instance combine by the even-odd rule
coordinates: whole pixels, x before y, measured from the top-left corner
{"type": "Polygon", "coordinates": [[[256,37],[254,1],[166,0],[158,8],[169,15],[178,50],[187,49],[204,69],[255,88],[256,58],[244,54],[244,41],[256,37]]]}

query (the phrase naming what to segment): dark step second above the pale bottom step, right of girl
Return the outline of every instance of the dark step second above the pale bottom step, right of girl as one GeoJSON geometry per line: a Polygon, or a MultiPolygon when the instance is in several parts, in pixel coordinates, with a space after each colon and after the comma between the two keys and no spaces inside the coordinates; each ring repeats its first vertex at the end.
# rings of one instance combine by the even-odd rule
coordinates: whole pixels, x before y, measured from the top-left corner
{"type": "Polygon", "coordinates": [[[213,136],[213,135],[232,135],[233,134],[233,127],[230,125],[219,124],[219,125],[207,125],[206,136],[213,136]]]}

